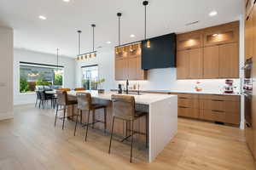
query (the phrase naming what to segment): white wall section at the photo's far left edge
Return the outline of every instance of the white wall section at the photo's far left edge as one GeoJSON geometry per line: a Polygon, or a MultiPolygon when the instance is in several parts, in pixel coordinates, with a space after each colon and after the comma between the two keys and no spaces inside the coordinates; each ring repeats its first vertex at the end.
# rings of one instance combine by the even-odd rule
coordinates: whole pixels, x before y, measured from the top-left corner
{"type": "Polygon", "coordinates": [[[13,30],[0,27],[0,120],[14,116],[13,106],[13,30]]]}

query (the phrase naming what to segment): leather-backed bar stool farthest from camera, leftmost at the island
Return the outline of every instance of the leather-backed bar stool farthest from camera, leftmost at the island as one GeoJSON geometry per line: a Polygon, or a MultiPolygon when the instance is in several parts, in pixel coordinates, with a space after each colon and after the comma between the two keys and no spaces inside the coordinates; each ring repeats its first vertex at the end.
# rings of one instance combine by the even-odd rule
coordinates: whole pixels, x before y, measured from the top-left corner
{"type": "Polygon", "coordinates": [[[63,119],[63,122],[62,122],[62,130],[63,130],[64,129],[65,118],[77,116],[77,115],[66,116],[67,106],[68,105],[77,105],[78,102],[77,102],[77,100],[68,99],[67,98],[67,91],[57,90],[56,91],[56,96],[57,96],[57,108],[56,108],[56,114],[55,114],[55,126],[56,126],[58,111],[64,110],[64,116],[61,117],[61,119],[63,119]],[[63,107],[63,109],[61,109],[61,110],[59,110],[60,105],[63,107]]]}

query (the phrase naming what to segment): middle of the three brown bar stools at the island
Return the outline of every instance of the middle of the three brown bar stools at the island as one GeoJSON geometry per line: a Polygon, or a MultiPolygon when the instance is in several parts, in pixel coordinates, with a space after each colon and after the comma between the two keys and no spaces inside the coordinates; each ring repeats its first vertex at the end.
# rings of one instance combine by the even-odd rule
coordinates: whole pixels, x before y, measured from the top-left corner
{"type": "MultiPolygon", "coordinates": [[[[87,122],[84,123],[84,125],[83,125],[83,127],[86,127],[85,128],[86,132],[85,132],[85,139],[84,140],[86,141],[86,139],[87,139],[89,125],[92,125],[92,128],[94,128],[94,124],[96,122],[102,122],[102,121],[99,121],[99,120],[95,119],[95,111],[98,110],[98,109],[103,109],[104,110],[104,121],[102,123],[104,123],[104,132],[106,133],[106,129],[107,129],[107,106],[106,105],[92,104],[91,95],[89,93],[77,93],[77,99],[78,99],[78,110],[80,112],[80,119],[81,120],[82,120],[83,111],[88,111],[87,122]],[[92,122],[89,122],[90,111],[92,111],[92,122]]],[[[76,126],[75,126],[74,133],[73,133],[74,136],[76,135],[78,117],[79,117],[79,115],[77,116],[77,120],[76,120],[76,126]]]]}

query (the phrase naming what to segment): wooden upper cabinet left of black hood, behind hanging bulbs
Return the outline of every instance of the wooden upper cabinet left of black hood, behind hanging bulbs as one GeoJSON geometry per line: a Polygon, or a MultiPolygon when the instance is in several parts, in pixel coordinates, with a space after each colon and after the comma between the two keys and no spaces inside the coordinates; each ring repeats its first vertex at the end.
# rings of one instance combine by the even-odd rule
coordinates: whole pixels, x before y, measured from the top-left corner
{"type": "Polygon", "coordinates": [[[141,43],[115,48],[115,80],[146,80],[142,70],[141,43]]]}

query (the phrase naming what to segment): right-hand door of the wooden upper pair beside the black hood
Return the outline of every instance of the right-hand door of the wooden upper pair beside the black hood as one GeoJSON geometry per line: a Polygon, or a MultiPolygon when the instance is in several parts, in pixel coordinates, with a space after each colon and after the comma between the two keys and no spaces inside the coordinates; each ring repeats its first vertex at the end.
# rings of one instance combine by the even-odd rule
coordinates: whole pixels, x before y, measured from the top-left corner
{"type": "Polygon", "coordinates": [[[189,78],[202,78],[203,74],[203,48],[189,50],[189,78]]]}

